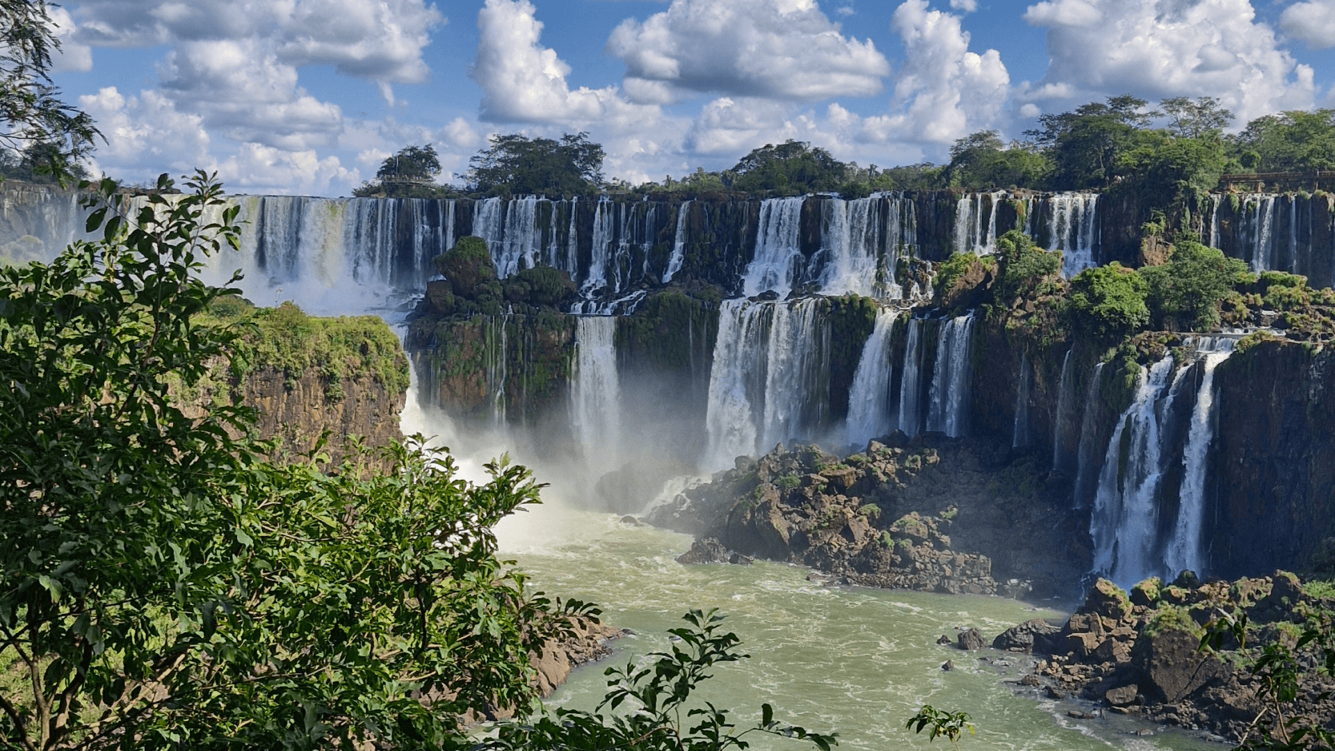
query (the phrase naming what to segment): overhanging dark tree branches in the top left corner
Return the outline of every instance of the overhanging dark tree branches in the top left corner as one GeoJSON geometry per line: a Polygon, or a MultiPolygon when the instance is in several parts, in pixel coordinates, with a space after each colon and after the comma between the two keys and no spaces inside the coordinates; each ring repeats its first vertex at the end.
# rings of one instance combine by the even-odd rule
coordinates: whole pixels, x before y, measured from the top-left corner
{"type": "Polygon", "coordinates": [[[60,49],[45,0],[0,0],[0,151],[64,182],[100,136],[92,118],[60,100],[51,53],[60,49]]]}

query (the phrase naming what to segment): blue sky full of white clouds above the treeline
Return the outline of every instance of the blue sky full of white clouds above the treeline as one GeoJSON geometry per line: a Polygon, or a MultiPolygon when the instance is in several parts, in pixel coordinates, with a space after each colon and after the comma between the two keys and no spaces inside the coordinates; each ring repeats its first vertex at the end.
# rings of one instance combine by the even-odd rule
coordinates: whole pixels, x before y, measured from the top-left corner
{"type": "Polygon", "coordinates": [[[630,182],[784,139],[880,166],[1116,94],[1335,106],[1335,0],[65,0],[56,83],[129,182],[347,195],[433,143],[587,131],[630,182]]]}

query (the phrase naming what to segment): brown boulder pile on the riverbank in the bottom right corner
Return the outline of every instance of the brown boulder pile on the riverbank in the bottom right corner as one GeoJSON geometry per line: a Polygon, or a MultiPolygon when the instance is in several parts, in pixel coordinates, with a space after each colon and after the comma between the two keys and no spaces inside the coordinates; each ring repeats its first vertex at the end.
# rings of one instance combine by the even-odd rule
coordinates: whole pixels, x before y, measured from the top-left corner
{"type": "MultiPolygon", "coordinates": [[[[1169,585],[1137,584],[1131,596],[1100,579],[1063,625],[1035,636],[1033,651],[1045,656],[1035,676],[1055,694],[1100,702],[1109,711],[1238,739],[1263,708],[1251,660],[1266,643],[1287,640],[1292,647],[1296,621],[1323,612],[1330,617],[1331,608],[1335,597],[1308,595],[1286,572],[1206,584],[1188,572],[1169,585]],[[1243,612],[1254,624],[1246,652],[1232,640],[1222,644],[1223,652],[1202,649],[1204,624],[1220,612],[1243,612]]],[[[1316,664],[1314,656],[1299,660],[1316,664]]],[[[1318,719],[1335,730],[1335,699],[1320,696],[1332,687],[1335,680],[1310,669],[1287,716],[1318,719]]]]}

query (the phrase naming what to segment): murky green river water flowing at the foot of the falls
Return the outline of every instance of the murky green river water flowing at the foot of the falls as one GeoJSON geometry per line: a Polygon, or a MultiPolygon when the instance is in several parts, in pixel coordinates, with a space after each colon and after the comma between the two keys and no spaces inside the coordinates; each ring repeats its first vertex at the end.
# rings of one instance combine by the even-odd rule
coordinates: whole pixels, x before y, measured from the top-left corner
{"type": "MultiPolygon", "coordinates": [[[[926,736],[904,723],[932,704],[972,715],[977,735],[961,740],[964,751],[1220,748],[1199,734],[1157,727],[1153,736],[1137,736],[1135,730],[1151,726],[1120,716],[1071,719],[1067,711],[1077,704],[1011,683],[1028,672],[1029,657],[936,644],[943,633],[953,639],[956,627],[977,627],[991,639],[1020,621],[1063,615],[1056,611],[1001,597],[825,587],[808,580],[809,569],[772,561],[681,565],[673,559],[690,547],[688,536],[550,505],[509,518],[497,532],[505,556],[518,560],[537,588],[595,601],[606,623],[637,632],[614,643],[609,660],[575,669],[553,704],[594,708],[607,664],[665,648],[666,629],[682,625],[689,608],[720,608],[752,657],[720,667],[700,696],[737,711],[740,726],[758,719],[760,704],[769,702],[786,722],[838,731],[841,748],[928,748],[926,736]],[[993,667],[979,656],[1012,664],[993,667]],[[945,660],[955,661],[953,671],[940,668],[945,660]]],[[[754,747],[804,746],[757,738],[754,747]]]]}

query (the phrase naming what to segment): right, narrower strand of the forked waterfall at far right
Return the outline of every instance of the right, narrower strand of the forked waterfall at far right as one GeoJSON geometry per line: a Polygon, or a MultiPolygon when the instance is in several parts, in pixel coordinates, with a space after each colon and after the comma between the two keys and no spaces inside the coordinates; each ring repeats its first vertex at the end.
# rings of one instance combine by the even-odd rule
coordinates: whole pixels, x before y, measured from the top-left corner
{"type": "Polygon", "coordinates": [[[1164,564],[1169,576],[1184,569],[1203,573],[1206,555],[1202,549],[1200,532],[1206,517],[1206,472],[1210,466],[1210,442],[1215,437],[1215,367],[1234,353],[1234,339],[1224,337],[1208,338],[1202,347],[1200,389],[1196,392],[1196,405],[1191,414],[1191,429],[1187,434],[1187,449],[1183,452],[1185,472],[1181,478],[1181,492],[1177,504],[1177,524],[1164,552],[1164,564]]]}

